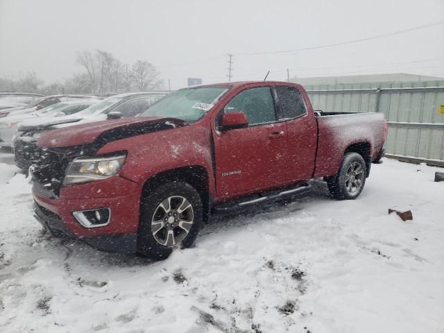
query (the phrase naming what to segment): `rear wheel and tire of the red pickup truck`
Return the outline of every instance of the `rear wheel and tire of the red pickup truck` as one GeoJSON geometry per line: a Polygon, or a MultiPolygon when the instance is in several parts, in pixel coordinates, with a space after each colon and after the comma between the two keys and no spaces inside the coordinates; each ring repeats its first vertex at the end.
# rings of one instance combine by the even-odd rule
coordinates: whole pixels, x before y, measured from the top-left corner
{"type": "Polygon", "coordinates": [[[327,178],[327,186],[334,198],[353,200],[366,184],[366,162],[358,153],[346,153],[335,176],[327,178]]]}

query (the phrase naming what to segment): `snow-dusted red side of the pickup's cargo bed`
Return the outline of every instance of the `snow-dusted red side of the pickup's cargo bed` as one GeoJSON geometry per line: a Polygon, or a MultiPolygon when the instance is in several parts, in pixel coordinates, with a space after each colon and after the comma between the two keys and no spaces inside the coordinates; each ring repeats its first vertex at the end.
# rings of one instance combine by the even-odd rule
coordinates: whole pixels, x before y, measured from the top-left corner
{"type": "Polygon", "coordinates": [[[315,111],[318,123],[318,152],[314,176],[333,176],[350,144],[366,142],[371,160],[384,144],[384,114],[315,111]]]}

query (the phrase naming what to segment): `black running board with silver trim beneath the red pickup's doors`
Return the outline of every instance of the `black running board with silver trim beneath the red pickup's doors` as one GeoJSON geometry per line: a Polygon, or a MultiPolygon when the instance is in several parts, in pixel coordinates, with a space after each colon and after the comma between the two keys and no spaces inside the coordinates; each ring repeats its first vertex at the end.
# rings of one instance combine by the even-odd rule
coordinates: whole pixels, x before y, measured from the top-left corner
{"type": "Polygon", "coordinates": [[[302,184],[296,187],[284,187],[278,190],[271,190],[262,192],[261,194],[254,194],[234,200],[230,200],[212,207],[212,213],[217,215],[230,214],[240,210],[248,210],[250,207],[257,207],[274,203],[279,200],[293,198],[305,194],[310,191],[311,185],[302,184]]]}

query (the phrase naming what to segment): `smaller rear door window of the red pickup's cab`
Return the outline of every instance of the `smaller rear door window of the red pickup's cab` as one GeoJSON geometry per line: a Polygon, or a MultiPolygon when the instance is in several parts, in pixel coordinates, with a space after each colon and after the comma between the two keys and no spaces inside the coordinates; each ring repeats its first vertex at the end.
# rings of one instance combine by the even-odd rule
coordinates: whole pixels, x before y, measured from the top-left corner
{"type": "Polygon", "coordinates": [[[295,87],[275,87],[278,101],[278,118],[296,118],[305,114],[305,103],[299,89],[295,87]]]}

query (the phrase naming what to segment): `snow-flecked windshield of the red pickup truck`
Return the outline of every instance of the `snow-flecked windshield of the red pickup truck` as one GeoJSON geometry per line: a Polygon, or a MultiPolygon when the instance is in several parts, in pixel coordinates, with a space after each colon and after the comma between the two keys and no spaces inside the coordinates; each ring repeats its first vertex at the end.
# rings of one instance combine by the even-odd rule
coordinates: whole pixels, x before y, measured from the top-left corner
{"type": "Polygon", "coordinates": [[[140,117],[171,117],[193,122],[203,117],[227,90],[227,87],[180,89],[151,105],[140,117]]]}

